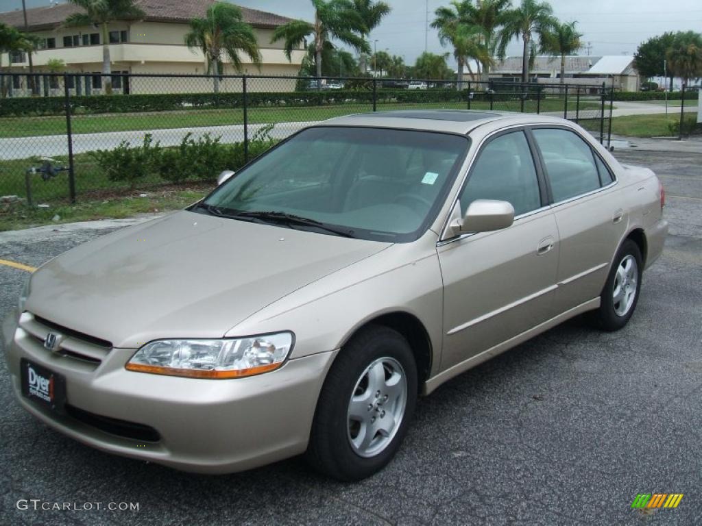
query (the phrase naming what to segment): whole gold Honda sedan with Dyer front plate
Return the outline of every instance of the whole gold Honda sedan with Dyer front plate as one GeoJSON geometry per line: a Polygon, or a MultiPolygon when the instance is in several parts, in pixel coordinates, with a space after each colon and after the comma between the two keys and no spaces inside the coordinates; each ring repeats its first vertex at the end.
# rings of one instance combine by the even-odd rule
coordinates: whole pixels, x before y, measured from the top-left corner
{"type": "Polygon", "coordinates": [[[3,325],[22,407],[186,471],[359,480],[418,396],[579,314],[623,328],[668,229],[651,170],[545,116],[341,117],[219,182],[32,274],[3,325]]]}

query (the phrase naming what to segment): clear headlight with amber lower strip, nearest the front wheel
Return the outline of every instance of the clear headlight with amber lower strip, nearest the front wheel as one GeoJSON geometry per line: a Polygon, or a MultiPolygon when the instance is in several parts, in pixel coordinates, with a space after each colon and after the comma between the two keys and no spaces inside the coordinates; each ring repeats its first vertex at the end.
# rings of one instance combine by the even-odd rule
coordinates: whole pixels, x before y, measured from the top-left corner
{"type": "Polygon", "coordinates": [[[191,378],[240,378],[283,365],[291,332],[232,339],[159,339],[136,351],[130,371],[191,378]]]}

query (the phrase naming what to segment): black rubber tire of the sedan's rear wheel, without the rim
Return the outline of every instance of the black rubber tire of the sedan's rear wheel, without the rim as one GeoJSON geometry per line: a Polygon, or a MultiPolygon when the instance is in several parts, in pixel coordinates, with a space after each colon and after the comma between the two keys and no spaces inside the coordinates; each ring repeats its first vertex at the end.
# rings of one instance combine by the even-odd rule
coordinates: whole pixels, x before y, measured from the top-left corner
{"type": "Polygon", "coordinates": [[[621,247],[619,247],[619,250],[614,257],[614,264],[612,264],[612,268],[609,270],[607,283],[604,284],[602,295],[600,295],[600,309],[597,309],[597,311],[594,312],[595,323],[599,328],[602,330],[614,331],[623,328],[623,326],[628,323],[636,310],[636,304],[639,301],[642,274],[643,262],[639,246],[634,243],[634,241],[627,239],[621,244],[621,247]],[[619,306],[618,302],[615,302],[614,292],[616,286],[618,285],[617,271],[622,262],[628,257],[633,257],[636,262],[636,286],[631,305],[628,307],[625,313],[622,314],[617,313],[617,309],[621,311],[621,306],[619,306]]]}

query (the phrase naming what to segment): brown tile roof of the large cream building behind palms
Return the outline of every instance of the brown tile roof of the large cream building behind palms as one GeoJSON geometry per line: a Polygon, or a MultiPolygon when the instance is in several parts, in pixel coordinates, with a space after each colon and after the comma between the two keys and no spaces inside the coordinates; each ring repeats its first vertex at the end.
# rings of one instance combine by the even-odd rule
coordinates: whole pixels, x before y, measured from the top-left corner
{"type": "MultiPolygon", "coordinates": [[[[192,18],[204,16],[207,8],[215,0],[135,0],[145,13],[145,20],[152,22],[187,23],[192,18]]],[[[244,20],[259,28],[274,28],[291,19],[274,13],[266,13],[246,7],[239,7],[244,20]]],[[[81,12],[74,4],[57,4],[55,6],[27,9],[29,29],[48,29],[61,25],[68,15],[81,12]]],[[[0,22],[22,28],[25,25],[22,10],[0,13],[0,22]]]]}

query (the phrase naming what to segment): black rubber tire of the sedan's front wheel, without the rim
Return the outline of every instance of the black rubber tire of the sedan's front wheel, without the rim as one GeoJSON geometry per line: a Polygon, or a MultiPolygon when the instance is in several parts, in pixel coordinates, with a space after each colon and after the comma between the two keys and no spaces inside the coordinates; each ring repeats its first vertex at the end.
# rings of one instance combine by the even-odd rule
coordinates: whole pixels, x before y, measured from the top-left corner
{"type": "Polygon", "coordinates": [[[362,480],[380,471],[395,456],[404,439],[417,392],[417,366],[406,339],[380,325],[362,329],[343,346],[326,375],[314,413],[307,461],[317,471],[344,482],[362,480]],[[347,414],[351,397],[360,387],[359,378],[371,364],[383,358],[402,365],[406,379],[404,414],[384,449],[371,457],[362,457],[352,446],[347,414]]]}

